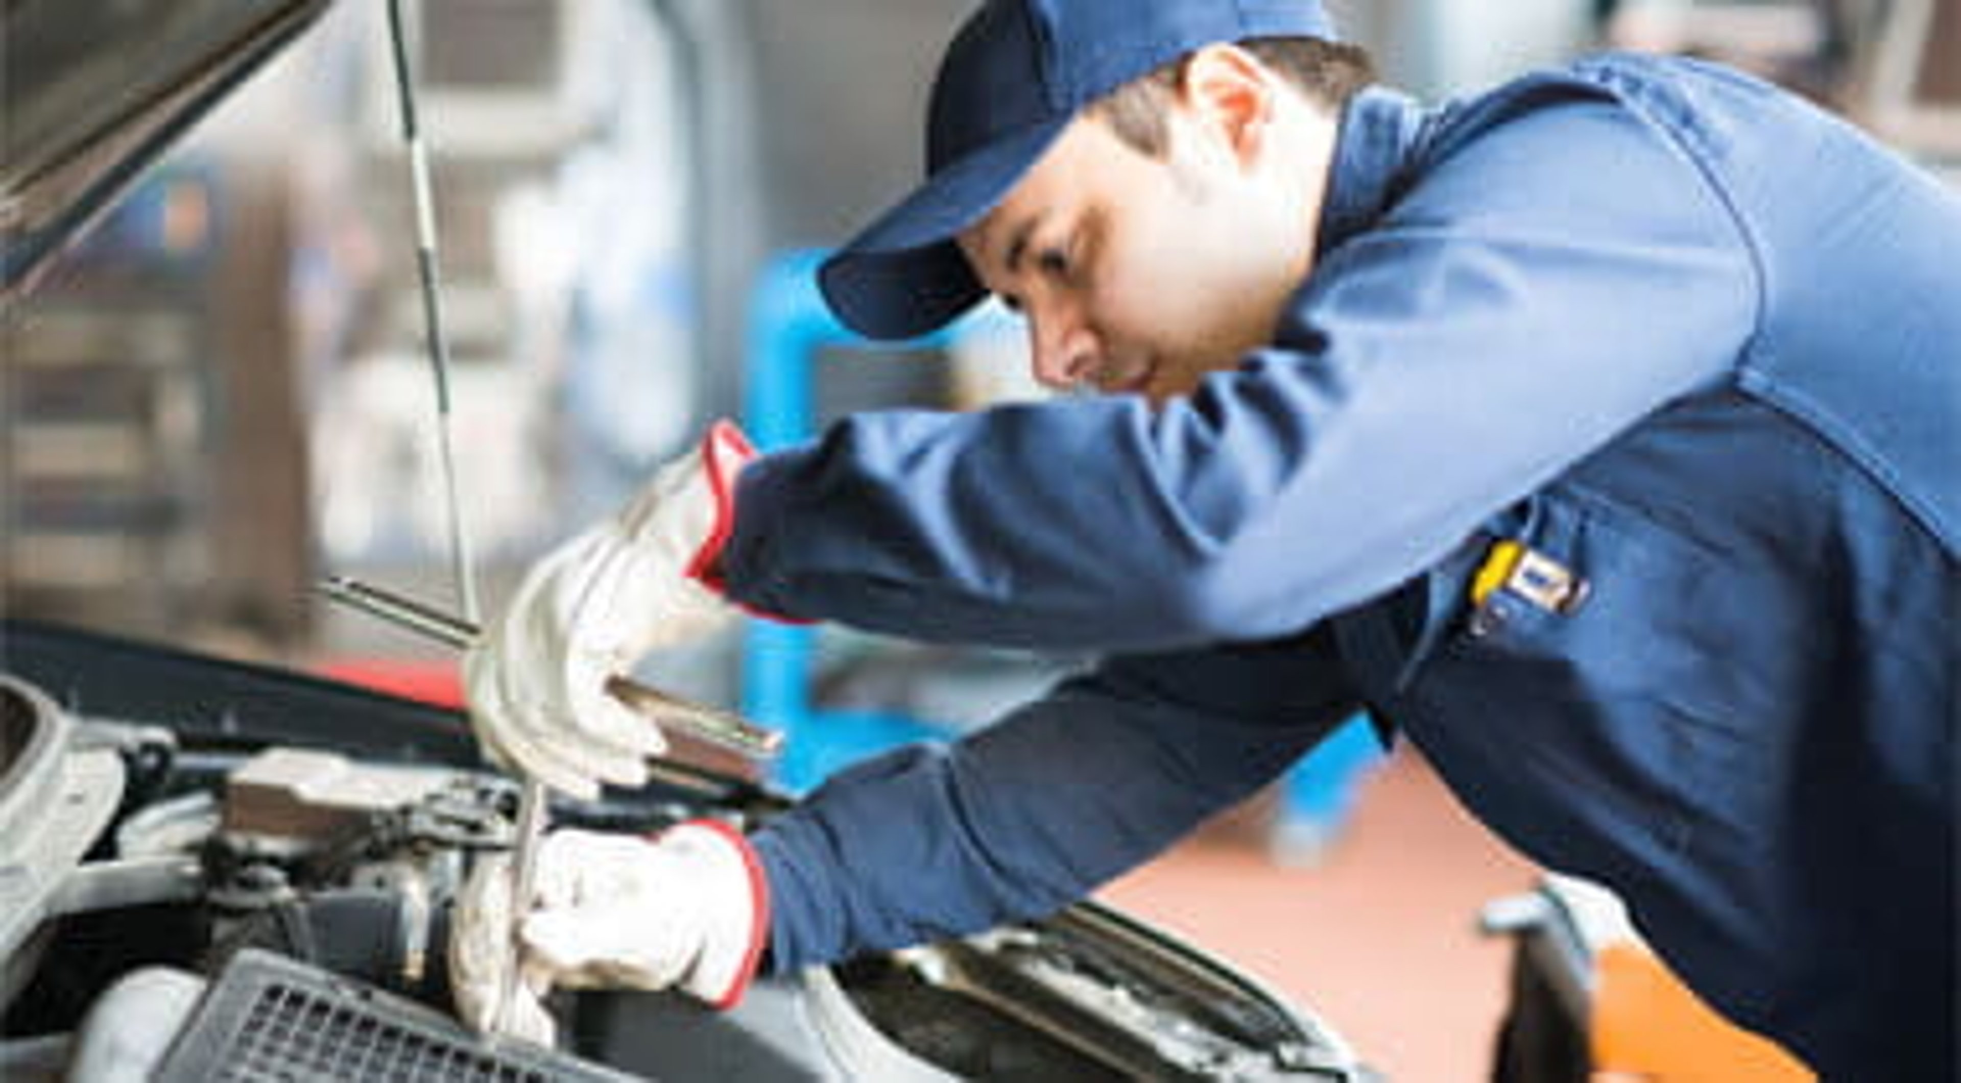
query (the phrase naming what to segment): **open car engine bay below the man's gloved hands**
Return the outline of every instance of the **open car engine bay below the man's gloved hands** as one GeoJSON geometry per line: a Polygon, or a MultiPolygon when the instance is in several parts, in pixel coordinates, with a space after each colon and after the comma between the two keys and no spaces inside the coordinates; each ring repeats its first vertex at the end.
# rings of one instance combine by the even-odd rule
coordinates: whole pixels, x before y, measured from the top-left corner
{"type": "MultiPolygon", "coordinates": [[[[51,625],[8,621],[6,648],[10,1081],[388,1075],[377,1058],[414,1079],[1365,1077],[1312,1014],[1098,905],[769,977],[728,1012],[559,991],[563,1050],[484,1040],[449,1014],[449,905],[510,846],[518,787],[459,717],[51,625]]],[[[784,807],[677,762],[551,815],[747,830],[784,807]]]]}

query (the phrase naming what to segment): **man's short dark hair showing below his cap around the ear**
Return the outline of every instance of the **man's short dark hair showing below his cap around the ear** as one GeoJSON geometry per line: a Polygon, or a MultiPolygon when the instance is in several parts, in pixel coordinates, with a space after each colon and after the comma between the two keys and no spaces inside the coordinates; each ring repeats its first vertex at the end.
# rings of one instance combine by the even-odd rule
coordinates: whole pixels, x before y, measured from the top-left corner
{"type": "MultiPolygon", "coordinates": [[[[1341,112],[1357,90],[1375,82],[1375,63],[1357,45],[1320,37],[1249,37],[1237,45],[1328,112],[1341,112]]],[[[1190,55],[1179,57],[1118,86],[1098,98],[1090,112],[1104,118],[1118,139],[1153,159],[1163,157],[1171,147],[1165,110],[1184,82],[1188,61],[1190,55]]]]}

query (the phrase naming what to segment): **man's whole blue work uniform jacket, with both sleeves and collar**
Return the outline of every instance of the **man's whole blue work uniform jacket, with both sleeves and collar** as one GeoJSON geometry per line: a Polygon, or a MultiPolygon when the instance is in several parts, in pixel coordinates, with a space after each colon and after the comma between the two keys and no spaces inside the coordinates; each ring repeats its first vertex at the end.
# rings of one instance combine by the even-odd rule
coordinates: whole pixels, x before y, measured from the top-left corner
{"type": "Polygon", "coordinates": [[[1110,652],[757,836],[777,967],[1039,915],[1367,705],[1828,1079],[1955,1079],[1961,204],[1600,57],[1341,119],[1320,259],[1188,400],[863,413],[733,597],[1110,652]]]}

